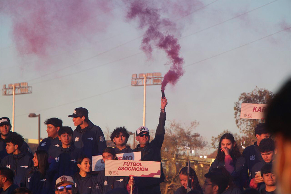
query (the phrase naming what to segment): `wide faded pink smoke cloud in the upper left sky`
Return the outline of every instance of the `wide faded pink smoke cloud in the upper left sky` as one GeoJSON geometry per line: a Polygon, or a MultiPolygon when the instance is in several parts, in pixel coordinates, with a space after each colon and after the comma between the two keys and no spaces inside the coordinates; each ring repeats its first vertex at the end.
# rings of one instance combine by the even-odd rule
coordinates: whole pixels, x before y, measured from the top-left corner
{"type": "Polygon", "coordinates": [[[2,1],[1,14],[11,17],[13,38],[21,55],[46,56],[90,39],[107,25],[98,18],[109,1],[2,1]]]}

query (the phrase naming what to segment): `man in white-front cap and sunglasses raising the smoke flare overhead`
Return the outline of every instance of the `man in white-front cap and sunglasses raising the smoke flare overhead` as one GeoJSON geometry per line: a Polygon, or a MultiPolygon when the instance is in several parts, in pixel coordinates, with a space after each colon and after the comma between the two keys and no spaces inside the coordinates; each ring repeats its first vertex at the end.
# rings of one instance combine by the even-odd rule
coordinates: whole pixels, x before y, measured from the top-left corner
{"type": "MultiPolygon", "coordinates": [[[[141,126],[136,130],[136,140],[139,145],[133,152],[141,152],[142,161],[161,161],[161,147],[164,142],[166,113],[165,108],[168,102],[166,97],[161,99],[161,113],[159,117],[159,124],[156,130],[155,138],[150,142],[150,131],[148,128],[141,126]]],[[[161,193],[160,183],[164,182],[165,175],[161,163],[161,177],[136,177],[136,184],[139,188],[139,193],[161,193]]]]}

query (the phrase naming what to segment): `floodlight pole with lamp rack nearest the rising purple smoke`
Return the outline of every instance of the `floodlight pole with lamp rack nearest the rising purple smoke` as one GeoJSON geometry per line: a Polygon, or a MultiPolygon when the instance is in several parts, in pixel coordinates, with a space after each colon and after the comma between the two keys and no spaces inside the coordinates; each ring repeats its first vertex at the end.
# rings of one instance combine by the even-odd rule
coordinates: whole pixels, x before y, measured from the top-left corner
{"type": "Polygon", "coordinates": [[[143,86],[143,126],[145,126],[145,86],[161,85],[163,78],[161,72],[140,73],[139,78],[137,78],[137,74],[132,74],[131,85],[143,86]]]}

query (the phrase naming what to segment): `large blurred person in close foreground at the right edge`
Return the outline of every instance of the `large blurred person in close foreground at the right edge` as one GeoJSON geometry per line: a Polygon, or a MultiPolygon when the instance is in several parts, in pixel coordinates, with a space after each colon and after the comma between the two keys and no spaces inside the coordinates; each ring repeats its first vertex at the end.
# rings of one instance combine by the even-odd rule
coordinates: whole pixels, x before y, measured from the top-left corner
{"type": "Polygon", "coordinates": [[[279,90],[267,107],[266,125],[275,135],[277,148],[274,172],[277,175],[277,193],[291,193],[291,79],[279,90]]]}

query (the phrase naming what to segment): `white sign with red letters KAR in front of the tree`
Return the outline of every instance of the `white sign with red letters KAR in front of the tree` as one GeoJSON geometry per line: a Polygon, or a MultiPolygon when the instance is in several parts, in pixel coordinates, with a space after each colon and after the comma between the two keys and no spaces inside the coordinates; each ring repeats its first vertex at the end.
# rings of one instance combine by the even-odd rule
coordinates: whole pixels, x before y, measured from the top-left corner
{"type": "Polygon", "coordinates": [[[242,103],[241,119],[265,119],[264,114],[267,110],[267,104],[248,104],[242,103]]]}

